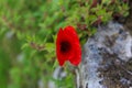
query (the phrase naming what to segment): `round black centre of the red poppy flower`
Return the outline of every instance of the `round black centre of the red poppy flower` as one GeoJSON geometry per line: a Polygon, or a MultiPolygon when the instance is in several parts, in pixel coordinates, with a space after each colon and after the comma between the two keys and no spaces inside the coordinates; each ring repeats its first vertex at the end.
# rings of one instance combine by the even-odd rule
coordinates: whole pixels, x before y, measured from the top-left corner
{"type": "Polygon", "coordinates": [[[70,45],[69,42],[64,41],[64,42],[61,43],[61,52],[62,53],[67,53],[67,52],[70,51],[70,48],[72,48],[72,45],[70,45]]]}

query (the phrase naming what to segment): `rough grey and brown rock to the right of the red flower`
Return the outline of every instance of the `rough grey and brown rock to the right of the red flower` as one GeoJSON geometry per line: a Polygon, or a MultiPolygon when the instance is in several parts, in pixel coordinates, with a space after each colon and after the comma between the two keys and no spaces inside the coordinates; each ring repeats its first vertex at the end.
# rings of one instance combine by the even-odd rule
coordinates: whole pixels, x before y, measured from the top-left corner
{"type": "Polygon", "coordinates": [[[109,22],[84,46],[77,88],[132,88],[132,35],[109,22]]]}

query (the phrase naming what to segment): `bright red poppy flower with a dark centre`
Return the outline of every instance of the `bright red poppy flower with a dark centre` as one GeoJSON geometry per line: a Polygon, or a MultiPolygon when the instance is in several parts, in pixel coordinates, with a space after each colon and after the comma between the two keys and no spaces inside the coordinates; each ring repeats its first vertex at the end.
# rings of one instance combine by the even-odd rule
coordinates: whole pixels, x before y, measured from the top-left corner
{"type": "Polygon", "coordinates": [[[77,66],[81,59],[81,48],[79,38],[73,26],[66,26],[64,30],[59,29],[56,41],[56,54],[61,66],[66,61],[77,66]]]}

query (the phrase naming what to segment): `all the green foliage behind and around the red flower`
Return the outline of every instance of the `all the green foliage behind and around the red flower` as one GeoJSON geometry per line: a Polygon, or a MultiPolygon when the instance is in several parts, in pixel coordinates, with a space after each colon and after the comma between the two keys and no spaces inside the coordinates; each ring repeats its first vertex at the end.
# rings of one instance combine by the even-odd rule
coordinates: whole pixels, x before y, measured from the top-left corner
{"type": "Polygon", "coordinates": [[[58,29],[74,25],[84,44],[96,33],[98,20],[107,23],[114,13],[129,14],[128,3],[120,0],[91,4],[92,0],[0,0],[0,88],[38,88],[40,79],[46,88],[48,80],[57,88],[74,88],[69,70],[63,80],[52,76],[58,66],[58,29]]]}

